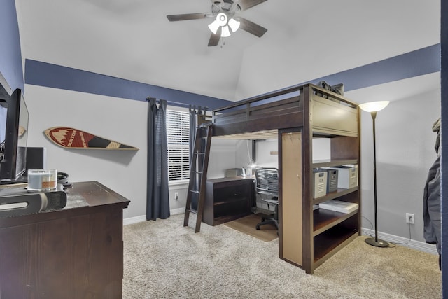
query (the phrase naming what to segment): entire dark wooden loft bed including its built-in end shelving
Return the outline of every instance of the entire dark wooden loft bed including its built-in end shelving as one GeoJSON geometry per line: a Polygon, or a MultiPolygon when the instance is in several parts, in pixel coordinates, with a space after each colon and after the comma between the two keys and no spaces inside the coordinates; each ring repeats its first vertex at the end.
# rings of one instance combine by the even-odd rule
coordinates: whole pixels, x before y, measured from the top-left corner
{"type": "Polygon", "coordinates": [[[360,235],[359,184],[314,198],[312,179],[320,167],[356,165],[360,173],[359,118],[358,104],[312,84],[212,111],[213,137],[278,139],[279,257],[309,274],[360,235]],[[313,160],[316,137],[330,138],[330,160],[313,160]],[[313,209],[335,199],[356,203],[358,210],[313,209]]]}

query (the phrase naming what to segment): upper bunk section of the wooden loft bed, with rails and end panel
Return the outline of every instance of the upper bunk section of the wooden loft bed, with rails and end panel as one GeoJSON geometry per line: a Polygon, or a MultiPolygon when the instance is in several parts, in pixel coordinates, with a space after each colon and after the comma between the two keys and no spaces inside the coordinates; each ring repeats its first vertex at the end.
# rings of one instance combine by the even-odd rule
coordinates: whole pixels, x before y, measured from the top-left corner
{"type": "Polygon", "coordinates": [[[329,136],[332,133],[358,136],[358,119],[353,118],[358,104],[309,83],[246,99],[212,111],[214,137],[247,137],[251,136],[251,132],[267,132],[268,136],[271,136],[272,130],[305,127],[310,120],[304,115],[310,109],[305,100],[312,100],[314,112],[321,113],[314,117],[316,136],[329,136]],[[291,96],[285,98],[286,95],[291,96]],[[275,98],[280,99],[269,101],[275,98]]]}

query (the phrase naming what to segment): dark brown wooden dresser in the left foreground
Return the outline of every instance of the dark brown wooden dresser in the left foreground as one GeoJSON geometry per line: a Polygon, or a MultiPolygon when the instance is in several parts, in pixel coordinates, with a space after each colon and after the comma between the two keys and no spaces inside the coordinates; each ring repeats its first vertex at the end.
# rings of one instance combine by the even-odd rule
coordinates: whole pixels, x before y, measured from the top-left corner
{"type": "Polygon", "coordinates": [[[97,181],[66,193],[88,205],[0,218],[0,298],[122,298],[130,201],[97,181]]]}

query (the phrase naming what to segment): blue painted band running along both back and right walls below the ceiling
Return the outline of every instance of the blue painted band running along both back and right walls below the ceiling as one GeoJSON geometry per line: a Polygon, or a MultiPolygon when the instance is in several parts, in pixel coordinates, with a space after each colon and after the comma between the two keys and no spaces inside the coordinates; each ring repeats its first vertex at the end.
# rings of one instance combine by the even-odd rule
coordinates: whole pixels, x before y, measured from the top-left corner
{"type": "MultiPolygon", "coordinates": [[[[318,83],[318,81],[326,81],[330,85],[344,83],[344,90],[349,91],[437,71],[440,71],[440,43],[299,85],[308,82],[318,83]]],[[[225,99],[162,88],[36,60],[25,61],[25,83],[139,101],[144,101],[146,97],[151,96],[166,99],[176,106],[195,104],[216,109],[232,103],[225,99]]]]}

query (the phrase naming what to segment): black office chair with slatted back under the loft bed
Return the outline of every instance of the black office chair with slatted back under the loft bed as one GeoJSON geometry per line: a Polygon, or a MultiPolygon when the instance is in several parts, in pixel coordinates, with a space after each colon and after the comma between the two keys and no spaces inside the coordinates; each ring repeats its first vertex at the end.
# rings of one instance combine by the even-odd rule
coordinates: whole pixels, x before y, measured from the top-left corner
{"type": "Polygon", "coordinates": [[[261,222],[255,228],[259,230],[261,225],[272,224],[279,230],[279,169],[255,168],[255,191],[267,203],[268,209],[274,205],[274,214],[262,213],[261,222]]]}

